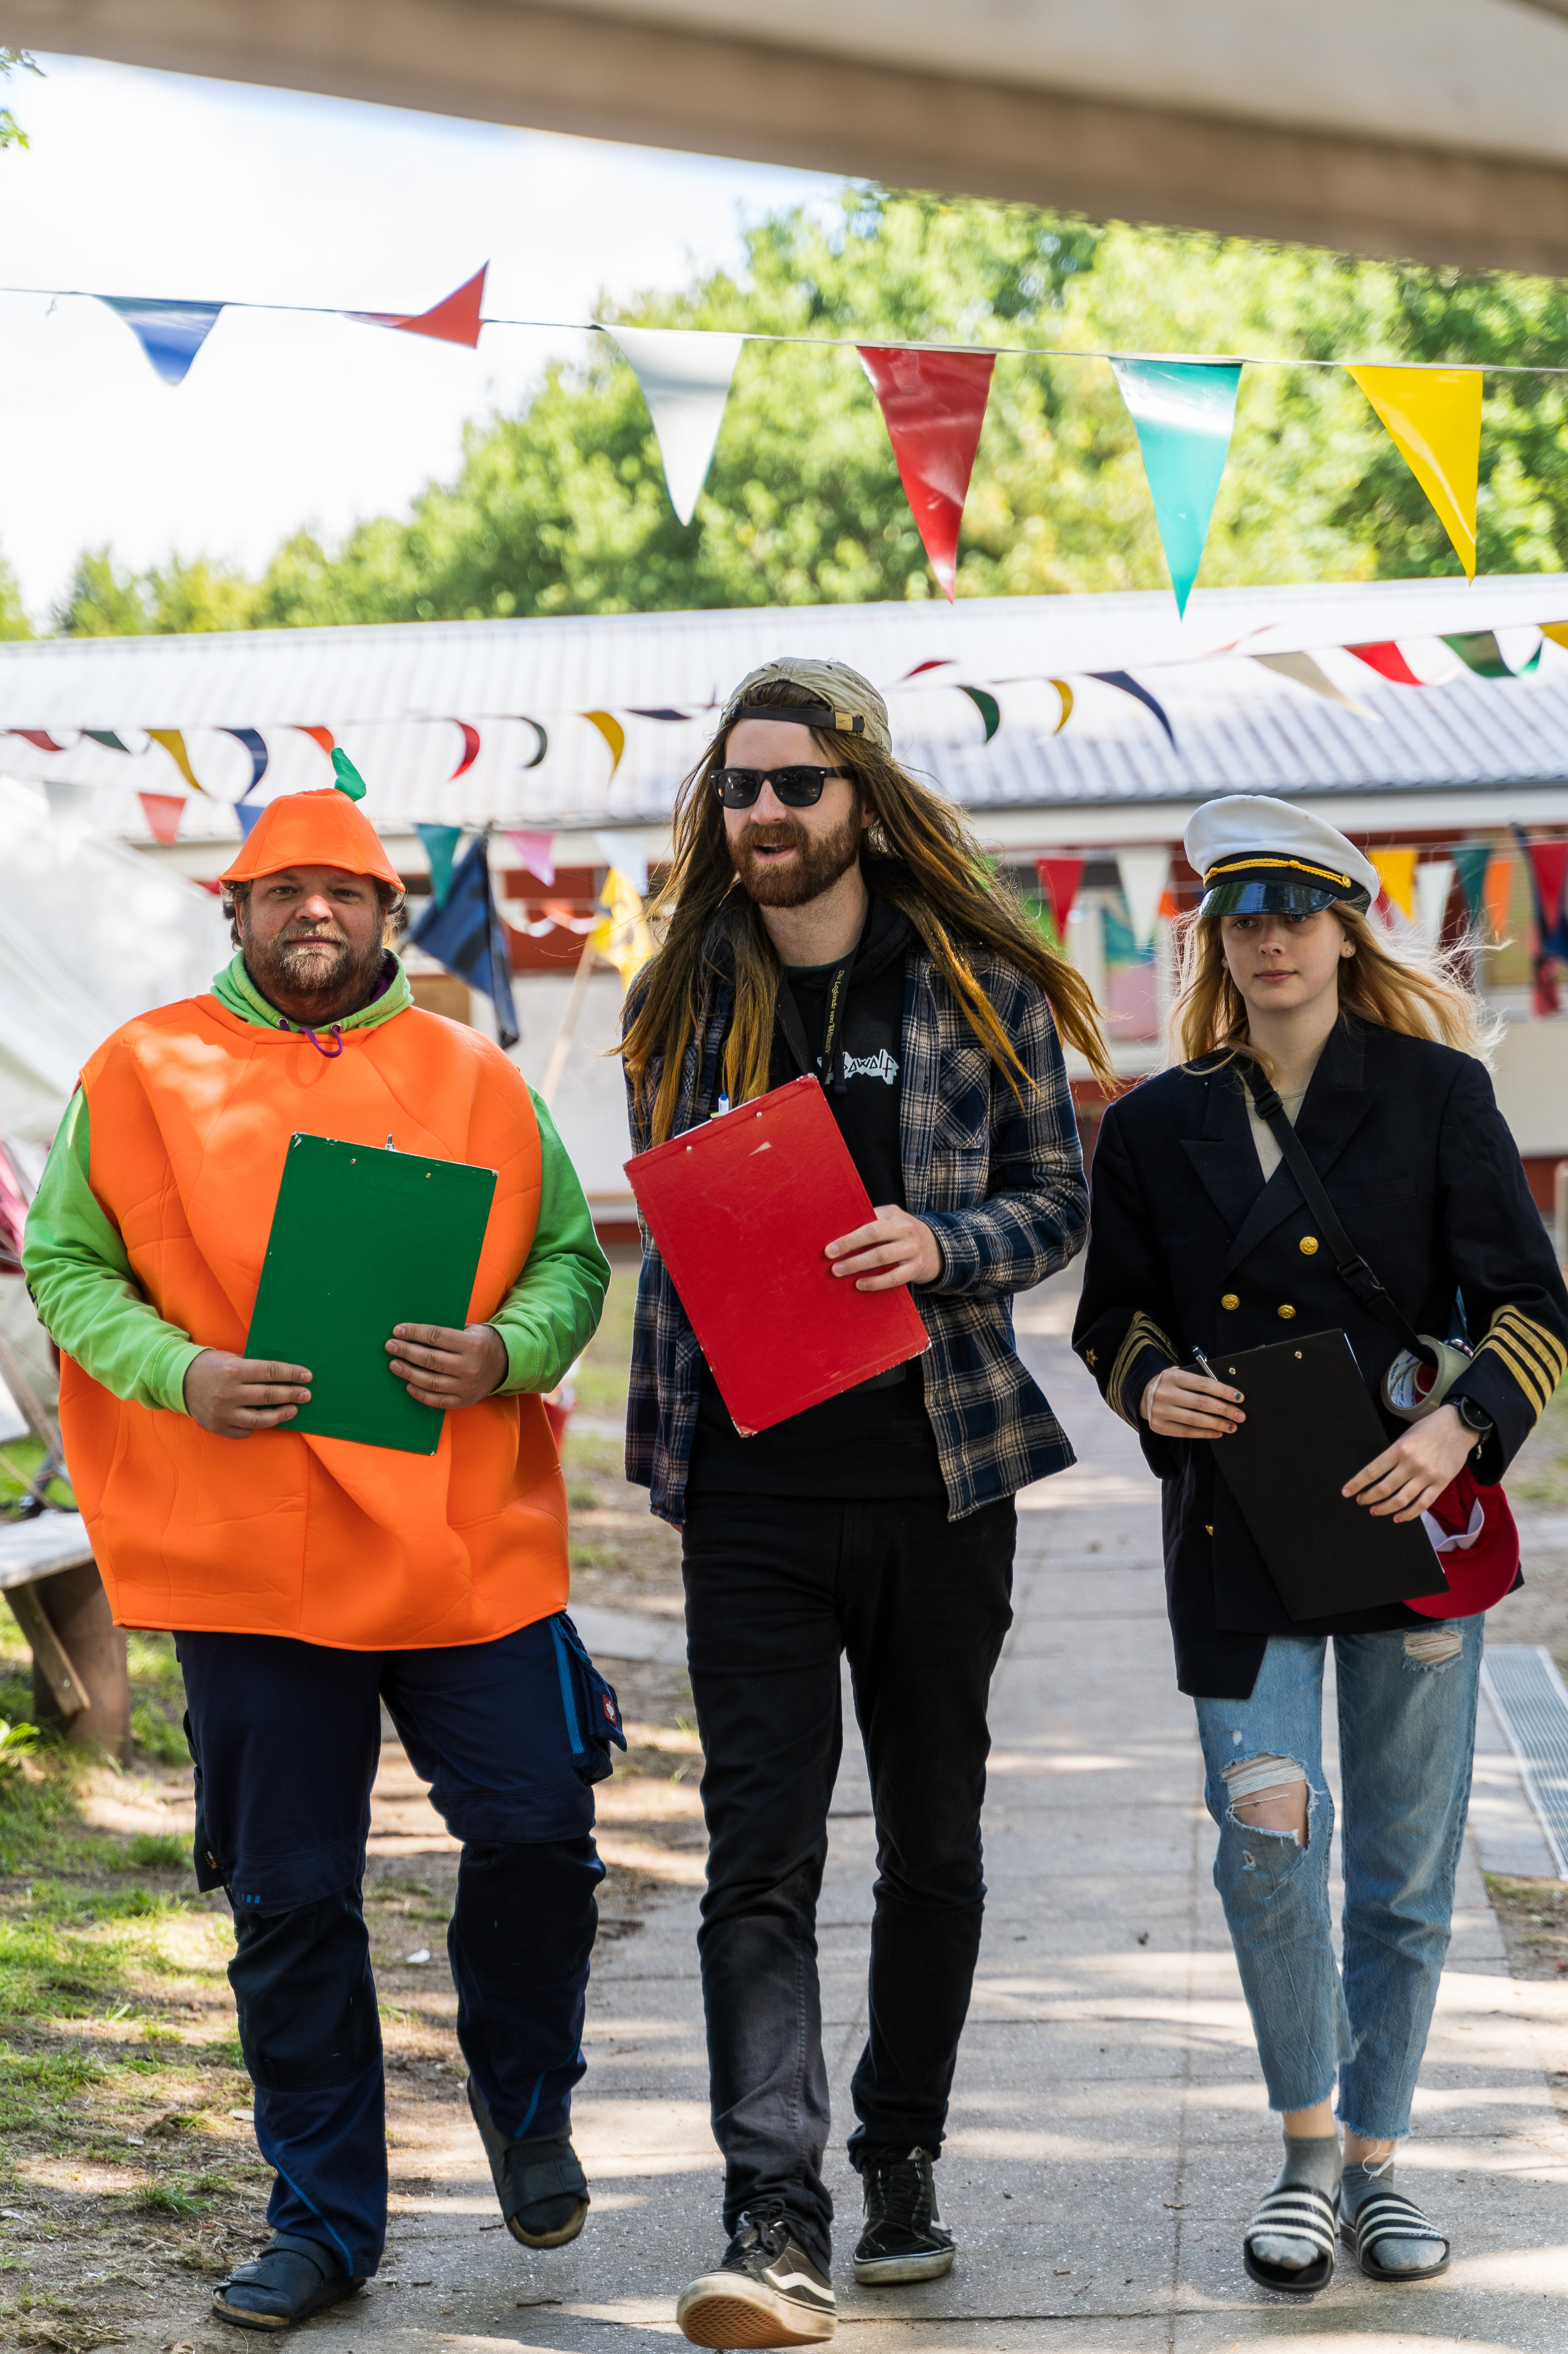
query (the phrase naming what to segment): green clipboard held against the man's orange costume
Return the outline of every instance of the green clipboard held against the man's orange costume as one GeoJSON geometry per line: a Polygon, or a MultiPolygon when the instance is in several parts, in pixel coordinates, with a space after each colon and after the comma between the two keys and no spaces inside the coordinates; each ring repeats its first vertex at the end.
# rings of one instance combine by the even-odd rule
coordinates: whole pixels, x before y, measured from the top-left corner
{"type": "Polygon", "coordinates": [[[444,1415],[393,1372],[393,1325],[465,1325],[496,1172],[289,1137],[247,1356],[310,1368],[289,1431],[435,1455],[444,1415]]]}

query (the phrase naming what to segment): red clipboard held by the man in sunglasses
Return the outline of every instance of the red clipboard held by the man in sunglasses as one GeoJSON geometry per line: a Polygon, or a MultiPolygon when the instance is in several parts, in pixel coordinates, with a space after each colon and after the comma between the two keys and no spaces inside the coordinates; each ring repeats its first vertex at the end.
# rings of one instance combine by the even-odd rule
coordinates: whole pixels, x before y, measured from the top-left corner
{"type": "Polygon", "coordinates": [[[743,1438],[931,1346],[907,1285],[858,1292],[823,1257],[872,1201],[816,1078],[625,1163],[743,1438]]]}

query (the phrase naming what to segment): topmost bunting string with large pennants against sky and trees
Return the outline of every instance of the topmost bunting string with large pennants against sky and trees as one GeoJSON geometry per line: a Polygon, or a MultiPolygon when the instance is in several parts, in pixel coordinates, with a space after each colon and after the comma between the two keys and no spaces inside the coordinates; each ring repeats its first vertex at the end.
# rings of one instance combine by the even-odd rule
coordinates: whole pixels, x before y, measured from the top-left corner
{"type": "Polygon", "coordinates": [[[853,351],[882,407],[898,476],[931,570],[947,598],[969,480],[985,426],[992,372],[1001,355],[1023,360],[1105,360],[1138,435],[1154,523],[1185,614],[1225,478],[1244,367],[1345,367],[1439,516],[1467,579],[1476,574],[1476,476],[1486,374],[1568,374],[1561,367],[1368,365],[1359,360],[1276,360],[1255,355],[1065,351],[1037,344],[886,344],[837,337],[717,332],[705,327],[623,327],[602,320],[487,315],[489,264],[428,311],[339,311],[317,304],[186,301],[101,294],[89,287],[0,287],[5,294],[75,294],[106,304],[141,344],[165,384],[183,384],[223,311],[294,311],[390,327],[477,348],[484,327],[574,330],[611,337],[649,407],[670,506],[691,523],[724,421],[745,344],[816,344],[853,351]]]}

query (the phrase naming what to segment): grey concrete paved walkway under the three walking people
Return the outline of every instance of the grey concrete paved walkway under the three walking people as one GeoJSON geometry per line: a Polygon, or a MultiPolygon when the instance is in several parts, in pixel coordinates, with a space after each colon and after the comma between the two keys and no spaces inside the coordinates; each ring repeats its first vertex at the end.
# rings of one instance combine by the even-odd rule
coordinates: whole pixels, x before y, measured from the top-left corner
{"type": "MultiPolygon", "coordinates": [[[[1279,2126],[1208,1881],[1213,1827],[1171,1674],[1157,1490],[1065,1346],[1070,1302],[1046,1288],[1020,1309],[1081,1462],[1020,1499],[1016,1627],[992,1711],[990,1911],[938,2170],[961,2255],[931,2288],[856,2290],[858,2199],[837,2156],[839,2342],[1246,2354],[1309,2338],[1345,2354],[1371,2340],[1559,2354],[1568,2133],[1544,2069],[1563,2062],[1568,1989],[1507,1975],[1474,1848],[1408,2156],[1455,2236],[1450,2274],[1394,2293],[1342,2267],[1307,2307],[1246,2281],[1239,2232],[1272,2180],[1279,2126]]],[[[1526,1836],[1495,1751],[1488,1775],[1500,1836],[1526,1836]]],[[[839,2135],[865,2034],[870,1878],[856,1758],[820,1921],[839,2135]]],[[[696,1890],[670,1886],[597,1961],[576,2112],[595,2187],[583,2239],[529,2257],[496,2229],[454,2107],[435,2142],[393,2152],[395,2185],[402,2173],[421,2189],[395,2194],[388,2272],[315,2328],[346,2349],[670,2342],[677,2288],[722,2246],[693,1928],[696,1890]]]]}

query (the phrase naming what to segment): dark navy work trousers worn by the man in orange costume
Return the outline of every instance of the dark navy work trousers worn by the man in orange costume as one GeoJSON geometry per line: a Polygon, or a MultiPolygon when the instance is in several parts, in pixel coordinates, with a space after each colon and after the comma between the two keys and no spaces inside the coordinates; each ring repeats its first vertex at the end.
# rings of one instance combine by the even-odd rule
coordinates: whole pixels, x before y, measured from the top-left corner
{"type": "MultiPolygon", "coordinates": [[[[381,1702],[454,1838],[458,2043],[508,2140],[569,2130],[604,1867],[592,1782],[614,1693],[538,1620],[451,1650],[179,1634],[195,1862],[235,1914],[228,1968],[268,2222],[371,2274],[386,2241],[381,2022],[362,1911],[381,1702]],[[609,1704],[604,1700],[609,1695],[609,1704]]],[[[618,1730],[618,1723],[616,1723],[618,1730]]]]}

